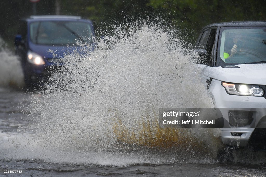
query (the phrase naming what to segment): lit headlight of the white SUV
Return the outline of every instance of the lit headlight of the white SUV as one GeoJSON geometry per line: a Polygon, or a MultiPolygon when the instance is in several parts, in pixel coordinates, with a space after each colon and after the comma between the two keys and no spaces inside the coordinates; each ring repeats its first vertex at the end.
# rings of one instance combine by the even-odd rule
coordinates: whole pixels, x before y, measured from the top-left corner
{"type": "Polygon", "coordinates": [[[233,84],[222,82],[226,92],[231,95],[263,96],[264,90],[258,85],[233,84]]]}

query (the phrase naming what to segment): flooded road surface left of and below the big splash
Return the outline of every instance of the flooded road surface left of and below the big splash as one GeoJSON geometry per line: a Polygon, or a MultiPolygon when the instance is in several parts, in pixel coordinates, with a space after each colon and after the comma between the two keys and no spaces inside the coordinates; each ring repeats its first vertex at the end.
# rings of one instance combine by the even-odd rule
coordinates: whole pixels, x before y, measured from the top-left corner
{"type": "MultiPolygon", "coordinates": [[[[260,156],[258,153],[250,157],[239,155],[240,159],[236,162],[221,163],[215,159],[204,159],[204,156],[203,161],[199,161],[196,156],[191,157],[192,159],[177,158],[171,150],[165,153],[165,150],[156,149],[156,152],[138,146],[129,152],[122,152],[118,147],[114,151],[109,149],[97,152],[95,149],[92,151],[79,149],[78,152],[73,150],[69,152],[54,145],[50,147],[53,148],[51,151],[47,151],[45,147],[51,142],[44,146],[36,143],[40,141],[32,138],[36,132],[28,129],[29,124],[32,124],[28,106],[36,96],[39,94],[9,87],[0,89],[1,176],[265,176],[266,174],[265,158],[255,159],[255,156],[260,156]],[[25,140],[28,142],[24,142],[25,140]],[[32,143],[36,143],[37,147],[33,147],[32,143]],[[140,152],[136,152],[138,150],[140,152]],[[165,155],[168,157],[162,157],[165,155]],[[194,160],[200,163],[193,163],[194,160]],[[5,170],[21,170],[22,173],[7,173],[5,170]]],[[[186,153],[185,156],[192,153],[191,150],[188,152],[179,150],[179,152],[186,153]]]]}

